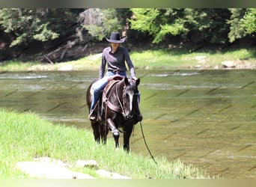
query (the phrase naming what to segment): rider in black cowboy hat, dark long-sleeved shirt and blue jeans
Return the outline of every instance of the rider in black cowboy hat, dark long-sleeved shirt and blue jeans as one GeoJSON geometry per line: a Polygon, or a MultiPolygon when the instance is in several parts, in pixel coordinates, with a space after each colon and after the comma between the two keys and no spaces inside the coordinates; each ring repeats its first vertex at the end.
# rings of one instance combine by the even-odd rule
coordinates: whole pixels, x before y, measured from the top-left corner
{"type": "Polygon", "coordinates": [[[105,86],[108,84],[109,76],[127,76],[127,67],[125,61],[127,62],[127,66],[129,67],[129,72],[132,76],[132,79],[137,79],[135,76],[135,70],[132,61],[129,58],[129,53],[127,52],[126,48],[121,46],[121,43],[124,43],[126,38],[121,38],[118,32],[112,32],[110,38],[106,38],[106,40],[108,40],[110,46],[103,49],[99,80],[95,82],[91,87],[93,95],[89,114],[90,120],[96,120],[94,107],[100,97],[100,92],[103,91],[103,88],[105,88],[105,86]],[[107,72],[104,76],[106,64],[107,72]]]}

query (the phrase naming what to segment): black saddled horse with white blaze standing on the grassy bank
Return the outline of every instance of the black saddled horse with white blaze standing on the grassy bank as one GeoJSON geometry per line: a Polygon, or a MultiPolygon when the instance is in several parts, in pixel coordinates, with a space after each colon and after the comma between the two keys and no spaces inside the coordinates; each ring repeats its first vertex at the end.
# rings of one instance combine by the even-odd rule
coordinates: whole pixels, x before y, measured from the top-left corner
{"type": "MultiPolygon", "coordinates": [[[[94,139],[99,144],[100,141],[106,144],[106,138],[110,130],[115,138],[115,147],[118,148],[118,129],[120,129],[121,132],[124,132],[124,150],[129,152],[129,138],[133,126],[142,120],[138,108],[139,82],[140,79],[134,80],[127,77],[121,80],[114,79],[104,89],[95,108],[98,115],[97,120],[91,120],[94,139]]],[[[91,85],[88,88],[86,98],[89,111],[91,108],[91,85]]]]}

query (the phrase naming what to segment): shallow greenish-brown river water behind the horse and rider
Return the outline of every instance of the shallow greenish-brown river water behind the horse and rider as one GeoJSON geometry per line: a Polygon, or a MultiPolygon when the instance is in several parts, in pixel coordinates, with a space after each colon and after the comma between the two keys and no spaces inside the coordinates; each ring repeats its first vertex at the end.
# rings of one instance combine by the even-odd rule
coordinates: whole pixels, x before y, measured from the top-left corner
{"type": "MultiPolygon", "coordinates": [[[[256,179],[255,70],[137,74],[142,127],[153,156],[181,159],[220,177],[256,179]]],[[[91,130],[85,94],[96,77],[97,72],[2,72],[0,107],[91,130]]],[[[131,151],[149,156],[139,124],[130,141],[131,151]]]]}

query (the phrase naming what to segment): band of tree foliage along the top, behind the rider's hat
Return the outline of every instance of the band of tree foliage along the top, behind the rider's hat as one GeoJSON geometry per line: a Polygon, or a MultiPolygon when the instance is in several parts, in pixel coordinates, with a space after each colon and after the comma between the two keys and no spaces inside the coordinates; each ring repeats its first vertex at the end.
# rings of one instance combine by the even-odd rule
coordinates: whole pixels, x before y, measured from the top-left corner
{"type": "Polygon", "coordinates": [[[138,43],[153,38],[153,44],[175,39],[228,45],[246,37],[253,43],[256,8],[0,8],[1,38],[8,39],[4,46],[26,47],[70,36],[97,42],[112,31],[138,43]]]}

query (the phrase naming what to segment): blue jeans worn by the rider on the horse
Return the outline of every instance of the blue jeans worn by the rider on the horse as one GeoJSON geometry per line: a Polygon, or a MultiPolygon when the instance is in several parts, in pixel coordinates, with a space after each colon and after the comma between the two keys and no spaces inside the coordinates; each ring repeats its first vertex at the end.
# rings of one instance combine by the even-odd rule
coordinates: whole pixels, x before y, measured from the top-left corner
{"type": "Polygon", "coordinates": [[[127,73],[125,73],[125,72],[115,73],[112,71],[107,71],[105,76],[102,79],[98,80],[97,82],[94,82],[94,84],[91,86],[91,89],[94,93],[92,95],[90,113],[91,113],[91,111],[93,111],[93,109],[97,103],[97,100],[100,97],[100,92],[103,91],[103,89],[108,84],[109,76],[115,76],[115,75],[127,76],[127,73]]]}

